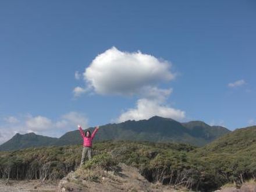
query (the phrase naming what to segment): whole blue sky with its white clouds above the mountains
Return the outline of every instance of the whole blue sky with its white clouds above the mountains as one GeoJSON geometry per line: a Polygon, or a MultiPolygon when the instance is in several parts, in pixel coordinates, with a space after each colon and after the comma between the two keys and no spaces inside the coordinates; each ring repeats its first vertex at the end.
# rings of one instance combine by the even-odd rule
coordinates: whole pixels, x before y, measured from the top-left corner
{"type": "Polygon", "coordinates": [[[255,1],[233,0],[1,1],[0,142],[159,114],[230,130],[255,125],[255,10],[255,1]],[[120,55],[121,69],[135,62],[138,82],[104,64],[107,53],[120,55]]]}

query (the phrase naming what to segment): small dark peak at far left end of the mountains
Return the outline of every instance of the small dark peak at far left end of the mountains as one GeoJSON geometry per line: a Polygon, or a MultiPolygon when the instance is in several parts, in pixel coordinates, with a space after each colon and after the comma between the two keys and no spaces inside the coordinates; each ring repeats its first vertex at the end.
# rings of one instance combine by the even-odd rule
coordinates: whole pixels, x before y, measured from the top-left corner
{"type": "Polygon", "coordinates": [[[58,138],[40,136],[34,133],[15,134],[9,141],[0,145],[0,151],[19,150],[28,147],[52,145],[58,138]]]}

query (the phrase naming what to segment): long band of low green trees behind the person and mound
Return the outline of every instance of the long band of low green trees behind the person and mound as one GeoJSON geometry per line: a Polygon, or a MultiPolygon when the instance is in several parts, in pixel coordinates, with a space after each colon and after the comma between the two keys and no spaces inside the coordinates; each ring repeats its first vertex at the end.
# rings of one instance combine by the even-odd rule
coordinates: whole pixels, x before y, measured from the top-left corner
{"type": "MultiPolygon", "coordinates": [[[[6,180],[61,179],[79,166],[81,150],[80,145],[70,145],[1,152],[0,176],[6,180]]],[[[134,166],[150,182],[200,191],[215,190],[229,182],[239,185],[256,176],[256,147],[254,151],[218,153],[187,144],[104,141],[94,144],[93,154],[97,158],[108,154],[111,163],[134,166]]]]}

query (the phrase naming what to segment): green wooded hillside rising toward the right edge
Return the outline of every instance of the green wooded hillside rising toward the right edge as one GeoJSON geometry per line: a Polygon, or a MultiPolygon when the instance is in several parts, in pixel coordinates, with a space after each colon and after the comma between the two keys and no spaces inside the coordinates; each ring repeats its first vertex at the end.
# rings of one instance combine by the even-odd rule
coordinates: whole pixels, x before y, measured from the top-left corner
{"type": "Polygon", "coordinates": [[[188,155],[195,167],[201,167],[208,187],[226,183],[239,187],[256,176],[256,126],[234,130],[188,155]]]}

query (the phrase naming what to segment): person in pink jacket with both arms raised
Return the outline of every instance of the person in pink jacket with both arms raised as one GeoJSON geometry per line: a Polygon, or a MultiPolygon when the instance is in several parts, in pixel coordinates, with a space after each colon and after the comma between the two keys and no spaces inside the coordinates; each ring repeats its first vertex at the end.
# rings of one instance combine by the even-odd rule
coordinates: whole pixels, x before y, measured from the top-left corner
{"type": "Polygon", "coordinates": [[[91,147],[93,145],[93,138],[97,131],[99,130],[99,126],[95,127],[93,134],[89,130],[84,133],[82,127],[80,125],[77,126],[77,129],[80,131],[81,137],[83,137],[83,153],[81,158],[80,165],[83,165],[84,159],[86,158],[86,154],[88,153],[88,159],[91,159],[91,147]]]}

